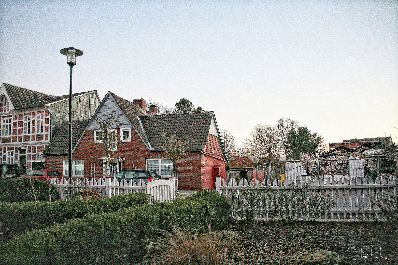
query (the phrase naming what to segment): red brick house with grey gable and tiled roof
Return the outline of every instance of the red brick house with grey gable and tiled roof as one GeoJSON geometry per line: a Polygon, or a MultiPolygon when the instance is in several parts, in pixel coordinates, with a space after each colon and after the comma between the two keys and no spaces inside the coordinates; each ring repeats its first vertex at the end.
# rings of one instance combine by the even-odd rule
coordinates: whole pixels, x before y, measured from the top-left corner
{"type": "MultiPolygon", "coordinates": [[[[156,115],[146,112],[144,99],[130,102],[111,92],[105,95],[94,117],[120,115],[111,161],[103,152],[101,133],[95,118],[72,122],[72,175],[107,176],[107,163],[115,170],[157,170],[162,177],[172,174],[173,162],[166,159],[161,146],[162,131],[178,135],[192,145],[189,154],[176,161],[179,190],[215,189],[215,176],[225,179],[227,162],[213,111],[156,115]],[[120,136],[120,137],[119,137],[120,136]]],[[[63,124],[43,151],[46,168],[68,175],[68,125],[63,124]]]]}

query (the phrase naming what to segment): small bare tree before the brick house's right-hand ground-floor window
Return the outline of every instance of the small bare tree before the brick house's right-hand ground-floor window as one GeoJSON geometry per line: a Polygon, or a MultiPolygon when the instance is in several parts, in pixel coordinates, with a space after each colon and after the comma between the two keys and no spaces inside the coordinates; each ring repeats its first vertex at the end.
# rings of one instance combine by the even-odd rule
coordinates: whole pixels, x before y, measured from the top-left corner
{"type": "Polygon", "coordinates": [[[188,155],[192,142],[189,140],[181,140],[176,134],[166,135],[164,131],[162,132],[162,138],[164,144],[160,148],[162,148],[162,153],[173,161],[174,169],[176,167],[176,162],[188,155]]]}

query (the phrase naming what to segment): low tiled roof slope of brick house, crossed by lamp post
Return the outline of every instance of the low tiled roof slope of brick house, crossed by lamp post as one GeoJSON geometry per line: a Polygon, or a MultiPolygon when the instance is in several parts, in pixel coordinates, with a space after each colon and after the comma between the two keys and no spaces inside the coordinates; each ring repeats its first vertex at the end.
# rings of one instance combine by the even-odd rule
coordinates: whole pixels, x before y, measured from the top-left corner
{"type": "MultiPolygon", "coordinates": [[[[80,136],[86,129],[86,126],[90,122],[88,120],[76,120],[72,121],[72,150],[74,149],[80,136]]],[[[49,145],[43,151],[44,154],[67,154],[68,153],[68,135],[69,126],[68,122],[62,123],[58,128],[57,132],[51,139],[49,145]]]]}

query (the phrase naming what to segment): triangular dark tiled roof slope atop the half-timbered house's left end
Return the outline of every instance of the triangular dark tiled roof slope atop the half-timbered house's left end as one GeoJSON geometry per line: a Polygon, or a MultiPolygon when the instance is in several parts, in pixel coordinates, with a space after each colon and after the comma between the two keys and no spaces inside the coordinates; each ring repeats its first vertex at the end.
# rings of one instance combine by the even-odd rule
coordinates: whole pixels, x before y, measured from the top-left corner
{"type": "Polygon", "coordinates": [[[16,87],[15,85],[10,85],[3,83],[4,88],[8,93],[9,100],[14,106],[14,109],[19,109],[22,106],[33,104],[38,101],[45,101],[55,98],[55,96],[47,95],[37,91],[25,89],[22,87],[16,87]]]}

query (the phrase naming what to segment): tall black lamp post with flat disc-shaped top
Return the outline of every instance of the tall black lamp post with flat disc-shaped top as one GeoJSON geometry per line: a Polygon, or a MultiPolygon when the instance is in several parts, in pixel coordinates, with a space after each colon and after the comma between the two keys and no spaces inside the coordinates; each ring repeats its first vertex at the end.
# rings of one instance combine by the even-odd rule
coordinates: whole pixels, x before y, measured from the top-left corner
{"type": "Polygon", "coordinates": [[[69,173],[69,178],[72,178],[72,68],[76,64],[76,56],[82,56],[83,52],[73,47],[63,48],[59,52],[62,53],[63,55],[68,56],[66,63],[70,66],[68,173],[69,173]]]}

